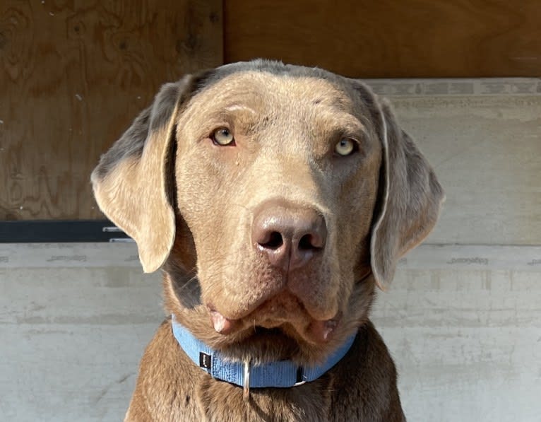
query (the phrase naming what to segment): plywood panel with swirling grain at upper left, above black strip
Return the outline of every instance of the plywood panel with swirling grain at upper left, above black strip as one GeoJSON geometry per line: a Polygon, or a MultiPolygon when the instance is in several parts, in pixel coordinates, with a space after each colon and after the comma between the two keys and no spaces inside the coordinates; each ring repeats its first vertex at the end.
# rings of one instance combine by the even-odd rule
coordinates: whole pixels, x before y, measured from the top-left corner
{"type": "Polygon", "coordinates": [[[101,218],[100,153],[162,83],[221,63],[219,0],[2,1],[0,220],[101,218]]]}

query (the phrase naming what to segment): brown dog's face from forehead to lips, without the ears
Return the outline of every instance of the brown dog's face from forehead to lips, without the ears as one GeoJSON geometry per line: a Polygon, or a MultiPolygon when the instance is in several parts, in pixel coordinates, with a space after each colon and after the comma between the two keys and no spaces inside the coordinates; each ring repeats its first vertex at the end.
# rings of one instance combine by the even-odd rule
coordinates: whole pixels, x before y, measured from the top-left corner
{"type": "Polygon", "coordinates": [[[366,112],[320,78],[255,71],[189,102],[177,198],[218,332],[284,326],[327,340],[367,272],[381,146],[366,112]]]}

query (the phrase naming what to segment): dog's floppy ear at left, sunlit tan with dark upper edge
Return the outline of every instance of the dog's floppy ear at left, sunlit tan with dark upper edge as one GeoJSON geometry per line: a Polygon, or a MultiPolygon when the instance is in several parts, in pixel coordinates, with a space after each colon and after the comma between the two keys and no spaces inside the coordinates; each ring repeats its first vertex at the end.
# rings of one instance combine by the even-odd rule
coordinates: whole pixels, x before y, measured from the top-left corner
{"type": "Polygon", "coordinates": [[[185,76],[162,86],[153,105],[138,115],[92,173],[97,204],[137,242],[145,272],[158,269],[173,245],[175,122],[200,78],[185,76]]]}

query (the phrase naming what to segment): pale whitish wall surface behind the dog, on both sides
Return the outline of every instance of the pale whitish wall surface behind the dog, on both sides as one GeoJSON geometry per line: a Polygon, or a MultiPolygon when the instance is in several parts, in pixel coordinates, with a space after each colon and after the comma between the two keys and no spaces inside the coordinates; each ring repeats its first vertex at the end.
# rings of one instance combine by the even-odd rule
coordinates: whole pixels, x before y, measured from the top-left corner
{"type": "MultiPolygon", "coordinates": [[[[541,82],[370,81],[444,185],[373,320],[409,421],[541,421],[541,82]]],[[[0,420],[118,421],[161,322],[129,244],[0,244],[0,420]]]]}

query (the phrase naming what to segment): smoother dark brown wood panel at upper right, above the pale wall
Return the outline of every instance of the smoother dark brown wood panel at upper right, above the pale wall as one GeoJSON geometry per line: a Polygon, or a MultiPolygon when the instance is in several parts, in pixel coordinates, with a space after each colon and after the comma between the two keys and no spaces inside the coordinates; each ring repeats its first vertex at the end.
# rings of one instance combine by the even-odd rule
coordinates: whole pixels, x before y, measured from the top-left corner
{"type": "Polygon", "coordinates": [[[541,76],[538,0],[227,0],[225,61],[359,78],[541,76]]]}

